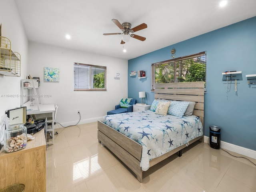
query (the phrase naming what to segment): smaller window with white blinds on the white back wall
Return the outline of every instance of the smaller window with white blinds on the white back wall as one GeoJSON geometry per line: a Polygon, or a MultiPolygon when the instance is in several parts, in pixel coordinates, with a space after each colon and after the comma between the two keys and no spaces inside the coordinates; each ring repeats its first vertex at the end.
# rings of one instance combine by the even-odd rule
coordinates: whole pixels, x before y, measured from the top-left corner
{"type": "Polygon", "coordinates": [[[74,90],[106,91],[107,67],[74,63],[74,90]]]}

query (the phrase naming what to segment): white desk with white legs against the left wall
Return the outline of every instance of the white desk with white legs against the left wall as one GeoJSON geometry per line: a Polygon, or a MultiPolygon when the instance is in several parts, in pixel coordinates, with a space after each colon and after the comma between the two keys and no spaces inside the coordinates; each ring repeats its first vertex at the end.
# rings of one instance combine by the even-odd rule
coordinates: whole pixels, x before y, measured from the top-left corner
{"type": "MultiPolygon", "coordinates": [[[[28,102],[29,103],[29,102],[28,102]]],[[[52,129],[48,130],[52,132],[52,142],[50,144],[54,144],[54,113],[55,113],[55,106],[54,104],[40,104],[39,110],[38,107],[35,106],[26,106],[27,107],[27,115],[33,115],[33,114],[46,114],[51,113],[52,115],[52,129]],[[32,109],[32,110],[30,110],[32,109]]],[[[45,136],[47,136],[47,119],[45,122],[45,136]]]]}

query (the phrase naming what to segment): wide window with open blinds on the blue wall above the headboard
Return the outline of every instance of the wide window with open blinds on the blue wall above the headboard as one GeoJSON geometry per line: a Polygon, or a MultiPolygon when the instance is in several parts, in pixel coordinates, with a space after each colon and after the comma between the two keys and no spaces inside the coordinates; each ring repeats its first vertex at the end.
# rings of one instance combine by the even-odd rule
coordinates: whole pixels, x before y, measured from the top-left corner
{"type": "Polygon", "coordinates": [[[195,81],[204,81],[206,90],[206,52],[154,63],[151,74],[151,91],[155,83],[195,81]]]}

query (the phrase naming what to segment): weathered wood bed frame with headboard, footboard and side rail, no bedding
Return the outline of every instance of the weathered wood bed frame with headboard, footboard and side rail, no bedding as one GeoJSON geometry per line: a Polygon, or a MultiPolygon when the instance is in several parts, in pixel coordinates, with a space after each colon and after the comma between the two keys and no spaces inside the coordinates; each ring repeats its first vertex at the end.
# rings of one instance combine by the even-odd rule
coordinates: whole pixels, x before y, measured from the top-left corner
{"type": "MultiPolygon", "coordinates": [[[[180,82],[180,83],[161,83],[155,84],[155,99],[168,99],[178,101],[196,102],[193,114],[198,116],[204,126],[204,82],[180,82]]],[[[204,136],[194,138],[189,142],[192,144],[200,140],[203,142],[204,136]]],[[[142,146],[120,132],[110,128],[108,125],[98,121],[98,141],[102,142],[112,153],[114,153],[142,182],[142,169],[140,159],[142,146]]],[[[186,144],[150,160],[150,167],[162,160],[179,152],[186,147],[186,144]]]]}

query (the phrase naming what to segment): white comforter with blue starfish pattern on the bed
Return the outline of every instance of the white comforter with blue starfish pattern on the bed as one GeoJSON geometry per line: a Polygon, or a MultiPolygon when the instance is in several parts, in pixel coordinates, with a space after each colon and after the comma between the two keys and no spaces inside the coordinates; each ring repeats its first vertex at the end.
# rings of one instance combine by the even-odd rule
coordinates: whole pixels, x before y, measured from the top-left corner
{"type": "Polygon", "coordinates": [[[194,115],[180,118],[146,110],[107,115],[102,122],[142,145],[143,171],[148,170],[153,158],[203,135],[200,118],[194,115]]]}

